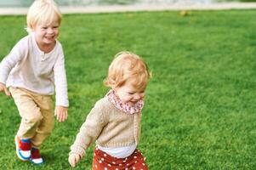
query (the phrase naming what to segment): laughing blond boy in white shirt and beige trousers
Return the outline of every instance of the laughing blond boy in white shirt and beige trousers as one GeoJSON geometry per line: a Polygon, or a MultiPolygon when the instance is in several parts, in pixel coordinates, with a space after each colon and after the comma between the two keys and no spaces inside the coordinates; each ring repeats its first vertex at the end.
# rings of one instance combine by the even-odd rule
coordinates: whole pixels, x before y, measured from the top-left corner
{"type": "Polygon", "coordinates": [[[15,136],[17,156],[35,164],[43,163],[39,148],[54,128],[54,115],[59,122],[68,116],[64,54],[56,39],[61,18],[53,0],[32,3],[26,17],[29,35],[14,46],[0,65],[0,92],[14,98],[21,116],[15,136]]]}

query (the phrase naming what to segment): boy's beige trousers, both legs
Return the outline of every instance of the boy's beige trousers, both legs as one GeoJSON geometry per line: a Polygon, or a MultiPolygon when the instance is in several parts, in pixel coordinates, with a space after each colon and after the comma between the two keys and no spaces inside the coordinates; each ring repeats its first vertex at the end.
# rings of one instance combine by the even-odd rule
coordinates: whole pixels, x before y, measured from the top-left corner
{"type": "Polygon", "coordinates": [[[24,88],[9,88],[17,106],[21,122],[18,137],[31,139],[33,147],[39,148],[54,128],[53,99],[24,88]]]}

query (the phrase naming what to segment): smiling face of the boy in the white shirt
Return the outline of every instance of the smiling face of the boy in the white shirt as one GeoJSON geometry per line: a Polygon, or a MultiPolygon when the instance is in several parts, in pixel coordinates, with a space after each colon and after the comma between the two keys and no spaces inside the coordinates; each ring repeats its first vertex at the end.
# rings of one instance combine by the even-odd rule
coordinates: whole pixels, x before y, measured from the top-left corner
{"type": "Polygon", "coordinates": [[[34,33],[39,48],[54,47],[56,38],[59,36],[59,20],[54,20],[51,24],[38,23],[34,28],[34,33]]]}

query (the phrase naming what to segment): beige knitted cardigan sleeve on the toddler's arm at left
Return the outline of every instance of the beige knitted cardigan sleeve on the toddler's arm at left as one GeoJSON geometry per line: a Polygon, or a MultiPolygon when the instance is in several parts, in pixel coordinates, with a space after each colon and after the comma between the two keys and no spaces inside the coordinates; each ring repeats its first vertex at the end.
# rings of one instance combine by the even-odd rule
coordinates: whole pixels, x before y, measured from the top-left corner
{"type": "Polygon", "coordinates": [[[73,153],[85,156],[89,145],[92,144],[100,135],[102,128],[105,126],[102,106],[98,101],[94,108],[88,114],[86,121],[82,124],[74,144],[71,145],[70,155],[73,153]]]}

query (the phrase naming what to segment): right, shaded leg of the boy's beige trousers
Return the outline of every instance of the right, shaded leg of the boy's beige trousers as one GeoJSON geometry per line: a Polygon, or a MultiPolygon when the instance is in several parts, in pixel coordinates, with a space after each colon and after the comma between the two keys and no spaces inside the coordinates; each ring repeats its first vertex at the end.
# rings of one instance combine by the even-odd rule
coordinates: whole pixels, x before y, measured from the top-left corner
{"type": "Polygon", "coordinates": [[[38,95],[35,97],[35,101],[41,110],[43,119],[37,127],[36,134],[32,137],[31,143],[33,147],[39,148],[54,128],[53,99],[51,96],[38,95]]]}

